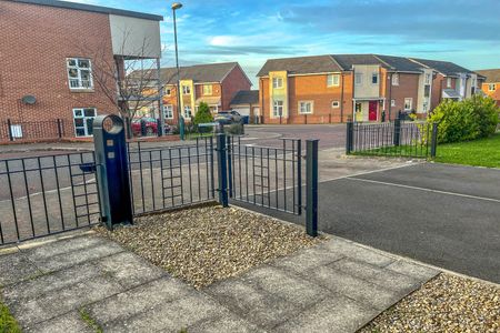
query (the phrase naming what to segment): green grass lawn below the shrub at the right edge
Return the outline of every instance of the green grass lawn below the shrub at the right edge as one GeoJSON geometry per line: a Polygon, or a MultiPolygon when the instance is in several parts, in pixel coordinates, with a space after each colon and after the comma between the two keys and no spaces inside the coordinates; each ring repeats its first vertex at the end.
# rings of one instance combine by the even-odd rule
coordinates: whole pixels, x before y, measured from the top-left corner
{"type": "Polygon", "coordinates": [[[500,132],[488,139],[439,144],[436,162],[500,168],[500,132]]]}

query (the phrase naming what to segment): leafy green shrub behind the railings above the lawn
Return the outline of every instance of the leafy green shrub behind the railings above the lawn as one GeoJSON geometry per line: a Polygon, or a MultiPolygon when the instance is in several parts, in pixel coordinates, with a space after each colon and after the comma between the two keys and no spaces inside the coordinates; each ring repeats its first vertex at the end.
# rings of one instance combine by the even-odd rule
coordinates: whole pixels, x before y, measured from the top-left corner
{"type": "Polygon", "coordinates": [[[438,142],[469,141],[494,133],[499,108],[490,98],[473,95],[464,101],[446,100],[429,115],[438,122],[438,142]]]}

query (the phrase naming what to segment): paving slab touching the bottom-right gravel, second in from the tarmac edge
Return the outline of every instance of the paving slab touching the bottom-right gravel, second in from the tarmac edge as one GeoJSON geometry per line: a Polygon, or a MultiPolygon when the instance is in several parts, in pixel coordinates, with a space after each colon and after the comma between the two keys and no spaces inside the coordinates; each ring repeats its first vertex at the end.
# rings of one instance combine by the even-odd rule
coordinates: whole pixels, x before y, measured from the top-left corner
{"type": "Polygon", "coordinates": [[[330,266],[394,291],[410,292],[421,284],[419,279],[350,259],[336,261],[330,266]]]}

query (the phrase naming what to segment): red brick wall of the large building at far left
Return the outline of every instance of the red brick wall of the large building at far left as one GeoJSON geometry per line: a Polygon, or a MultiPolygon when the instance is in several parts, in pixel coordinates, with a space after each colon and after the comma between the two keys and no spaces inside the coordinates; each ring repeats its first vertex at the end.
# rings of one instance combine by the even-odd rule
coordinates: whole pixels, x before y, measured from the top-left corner
{"type": "MultiPolygon", "coordinates": [[[[97,108],[99,113],[116,107],[94,82],[93,92],[71,92],[66,59],[90,58],[112,63],[111,36],[107,14],[0,1],[0,31],[4,37],[0,57],[0,121],[63,119],[66,137],[74,135],[72,109],[97,108]],[[94,54],[100,53],[98,57],[94,54]],[[24,105],[26,94],[37,98],[24,105]]],[[[110,82],[109,87],[113,87],[110,82]]]]}

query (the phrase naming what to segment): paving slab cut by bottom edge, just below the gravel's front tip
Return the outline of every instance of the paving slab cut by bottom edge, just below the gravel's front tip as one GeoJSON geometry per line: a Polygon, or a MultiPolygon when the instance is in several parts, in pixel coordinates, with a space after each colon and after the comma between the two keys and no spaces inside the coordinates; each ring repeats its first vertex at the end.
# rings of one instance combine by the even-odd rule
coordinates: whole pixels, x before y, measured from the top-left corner
{"type": "Polygon", "coordinates": [[[136,316],[107,326],[106,332],[179,332],[197,322],[220,316],[227,310],[202,293],[162,303],[136,316]]]}

